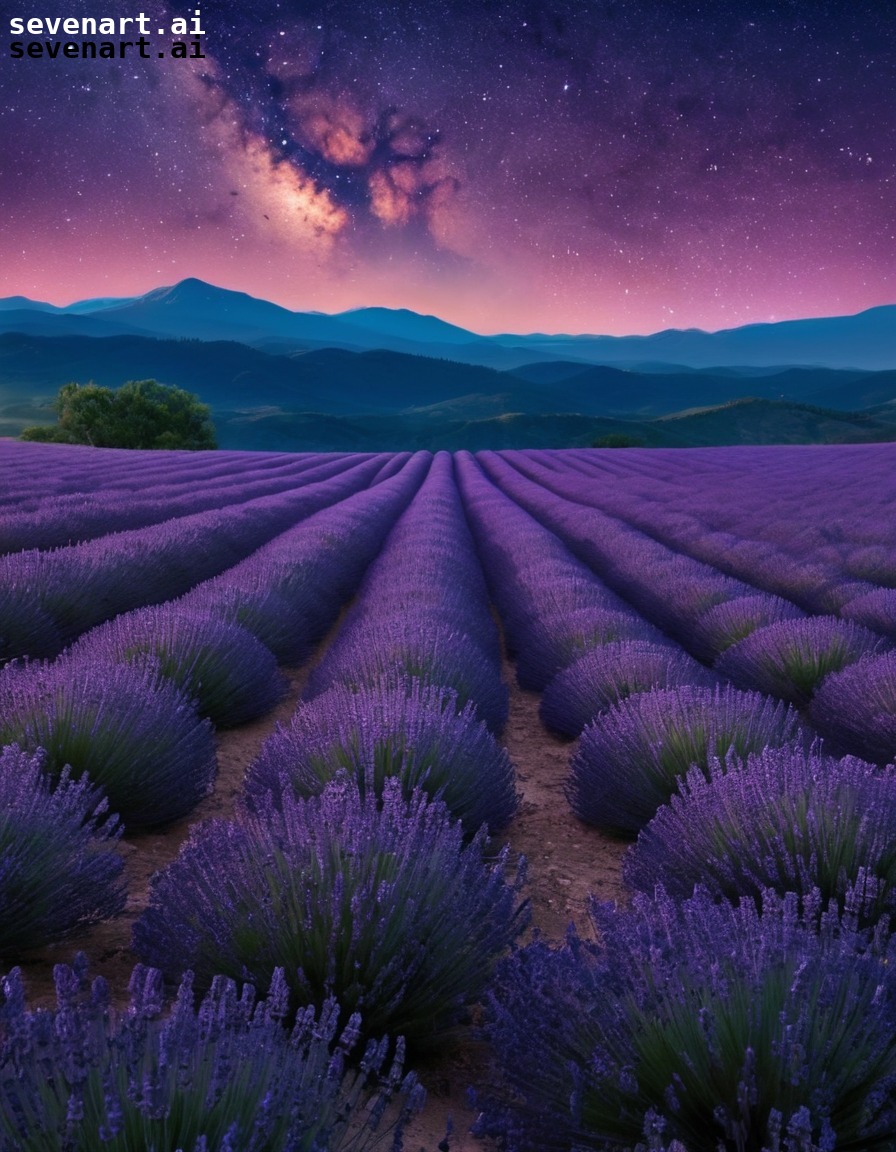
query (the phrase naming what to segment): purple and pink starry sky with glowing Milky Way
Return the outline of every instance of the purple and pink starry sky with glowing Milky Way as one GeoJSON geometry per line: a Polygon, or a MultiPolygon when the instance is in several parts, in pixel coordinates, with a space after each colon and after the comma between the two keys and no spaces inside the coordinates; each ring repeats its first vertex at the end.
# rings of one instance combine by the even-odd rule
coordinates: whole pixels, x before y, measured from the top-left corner
{"type": "Polygon", "coordinates": [[[12,59],[81,36],[3,17],[0,296],[199,276],[610,334],[896,302],[889,0],[197,5],[203,60],[155,35],[192,7],[7,6],[153,36],[147,60],[12,59]]]}

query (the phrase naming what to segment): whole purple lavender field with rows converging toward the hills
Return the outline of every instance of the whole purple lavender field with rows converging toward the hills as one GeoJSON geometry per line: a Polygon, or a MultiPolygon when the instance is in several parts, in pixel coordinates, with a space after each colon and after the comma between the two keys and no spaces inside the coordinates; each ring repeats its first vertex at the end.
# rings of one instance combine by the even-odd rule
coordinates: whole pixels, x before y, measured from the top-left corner
{"type": "Polygon", "coordinates": [[[895,503],[0,441],[0,1152],[896,1149],[895,503]]]}

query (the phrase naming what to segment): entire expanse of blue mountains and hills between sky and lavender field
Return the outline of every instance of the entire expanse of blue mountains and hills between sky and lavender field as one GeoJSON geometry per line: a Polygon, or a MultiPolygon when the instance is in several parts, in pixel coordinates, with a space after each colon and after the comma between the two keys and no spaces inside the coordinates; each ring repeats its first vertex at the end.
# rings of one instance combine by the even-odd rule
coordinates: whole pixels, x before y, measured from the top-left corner
{"type": "Polygon", "coordinates": [[[68,308],[0,301],[0,434],[52,423],[71,380],[146,378],[197,393],[220,442],[243,448],[889,439],[896,305],[616,338],[480,336],[407,309],[293,312],[196,279],[68,308]]]}

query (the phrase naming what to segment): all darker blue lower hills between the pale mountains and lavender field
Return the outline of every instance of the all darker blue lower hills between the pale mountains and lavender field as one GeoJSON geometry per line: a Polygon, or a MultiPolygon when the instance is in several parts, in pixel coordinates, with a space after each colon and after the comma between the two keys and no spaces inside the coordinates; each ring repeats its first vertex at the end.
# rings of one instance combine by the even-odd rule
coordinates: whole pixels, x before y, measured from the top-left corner
{"type": "MultiPolygon", "coordinates": [[[[896,402],[891,371],[787,369],[744,378],[705,370],[644,373],[579,366],[575,372],[552,372],[549,367],[499,372],[388,350],[329,348],[278,356],[236,341],[7,333],[0,335],[0,422],[52,422],[48,403],[70,380],[117,387],[146,378],[197,393],[219,422],[236,420],[233,414],[242,414],[253,435],[263,427],[279,427],[271,434],[281,435],[284,422],[298,417],[306,430],[310,416],[356,423],[384,417],[384,426],[401,427],[408,435],[419,430],[427,442],[441,424],[446,434],[450,425],[455,431],[465,429],[471,439],[483,434],[502,442],[510,427],[514,435],[540,442],[553,426],[564,440],[575,435],[576,442],[587,444],[607,430],[609,434],[620,420],[648,426],[650,432],[638,435],[650,444],[765,444],[776,442],[776,437],[777,442],[810,442],[866,434],[874,439],[886,434],[882,430],[891,423],[886,406],[896,402]],[[745,394],[753,397],[749,409],[743,407],[745,394]],[[741,407],[729,408],[732,402],[741,407]],[[814,406],[811,418],[807,404],[814,406]],[[855,419],[850,415],[871,406],[881,408],[880,414],[855,419]],[[821,409],[828,412],[827,424],[818,418],[821,409]],[[797,410],[803,411],[802,424],[797,410]],[[829,414],[836,410],[834,420],[829,414]],[[660,427],[654,422],[663,417],[670,419],[660,427]],[[689,423],[682,423],[685,418],[689,423]],[[782,422],[777,432],[775,420],[782,422]],[[846,427],[849,420],[852,425],[846,427]]],[[[362,433],[340,426],[339,435],[363,441],[372,429],[362,433]]],[[[253,441],[251,447],[256,446],[253,441]]]]}

